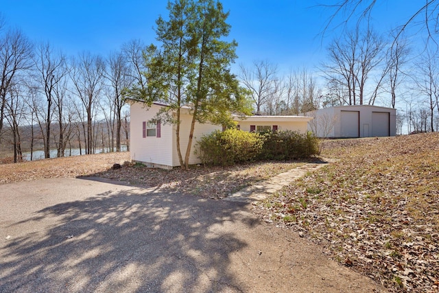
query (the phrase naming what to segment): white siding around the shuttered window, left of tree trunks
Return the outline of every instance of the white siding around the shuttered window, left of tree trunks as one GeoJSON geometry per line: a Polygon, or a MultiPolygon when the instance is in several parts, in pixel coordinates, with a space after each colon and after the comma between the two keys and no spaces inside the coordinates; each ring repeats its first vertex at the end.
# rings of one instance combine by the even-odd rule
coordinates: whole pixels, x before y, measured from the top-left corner
{"type": "Polygon", "coordinates": [[[161,137],[143,138],[142,123],[154,118],[161,107],[152,105],[150,108],[139,102],[131,104],[130,121],[130,156],[133,161],[140,161],[148,165],[172,164],[172,126],[161,123],[161,137]]]}

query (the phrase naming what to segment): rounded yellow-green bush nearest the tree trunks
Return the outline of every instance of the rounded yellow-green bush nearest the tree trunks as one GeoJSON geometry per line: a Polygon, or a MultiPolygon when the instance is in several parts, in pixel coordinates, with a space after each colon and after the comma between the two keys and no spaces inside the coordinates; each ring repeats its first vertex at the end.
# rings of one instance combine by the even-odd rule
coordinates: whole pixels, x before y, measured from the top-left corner
{"type": "Polygon", "coordinates": [[[263,137],[259,133],[237,129],[215,131],[198,141],[198,157],[202,163],[234,165],[254,161],[262,150],[263,137]]]}

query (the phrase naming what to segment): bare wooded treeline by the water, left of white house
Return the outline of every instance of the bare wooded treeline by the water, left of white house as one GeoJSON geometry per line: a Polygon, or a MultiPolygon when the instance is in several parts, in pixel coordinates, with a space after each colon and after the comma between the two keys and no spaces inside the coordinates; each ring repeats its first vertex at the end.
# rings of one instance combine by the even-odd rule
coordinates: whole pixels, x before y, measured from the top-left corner
{"type": "MultiPolygon", "coordinates": [[[[130,113],[123,90],[143,82],[143,45],[132,40],[108,56],[66,56],[0,24],[0,151],[67,148],[84,154],[128,145],[130,113]],[[82,151],[83,150],[83,151],[82,151]]],[[[8,155],[8,154],[6,154],[8,155]]]]}

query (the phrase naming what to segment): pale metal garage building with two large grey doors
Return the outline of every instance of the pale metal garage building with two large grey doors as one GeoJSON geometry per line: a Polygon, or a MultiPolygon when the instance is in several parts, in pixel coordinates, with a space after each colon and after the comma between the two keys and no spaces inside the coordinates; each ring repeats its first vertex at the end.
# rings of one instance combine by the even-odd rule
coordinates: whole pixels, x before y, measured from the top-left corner
{"type": "Polygon", "coordinates": [[[370,105],[334,106],[305,113],[317,137],[394,137],[396,109],[370,105]]]}

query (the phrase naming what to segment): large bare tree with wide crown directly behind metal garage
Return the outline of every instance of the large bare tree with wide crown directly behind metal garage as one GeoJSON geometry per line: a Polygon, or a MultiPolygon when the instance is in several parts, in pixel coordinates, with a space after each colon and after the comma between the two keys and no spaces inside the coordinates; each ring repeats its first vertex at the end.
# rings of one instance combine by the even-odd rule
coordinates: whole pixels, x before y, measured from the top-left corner
{"type": "MultiPolygon", "coordinates": [[[[346,104],[364,104],[366,82],[383,60],[383,47],[382,38],[372,30],[349,32],[329,45],[329,62],[322,65],[322,71],[328,82],[346,89],[346,104]]],[[[369,104],[373,102],[369,99],[369,104]]]]}

